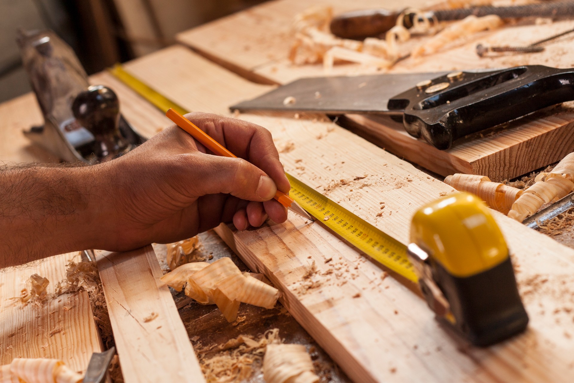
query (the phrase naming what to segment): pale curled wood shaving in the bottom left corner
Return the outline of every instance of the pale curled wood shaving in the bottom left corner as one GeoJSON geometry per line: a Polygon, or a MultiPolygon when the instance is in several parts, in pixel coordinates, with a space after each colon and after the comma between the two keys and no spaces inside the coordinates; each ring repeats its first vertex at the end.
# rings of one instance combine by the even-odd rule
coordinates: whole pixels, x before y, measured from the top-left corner
{"type": "Polygon", "coordinates": [[[78,383],[83,376],[58,359],[15,358],[0,369],[2,383],[78,383]]]}

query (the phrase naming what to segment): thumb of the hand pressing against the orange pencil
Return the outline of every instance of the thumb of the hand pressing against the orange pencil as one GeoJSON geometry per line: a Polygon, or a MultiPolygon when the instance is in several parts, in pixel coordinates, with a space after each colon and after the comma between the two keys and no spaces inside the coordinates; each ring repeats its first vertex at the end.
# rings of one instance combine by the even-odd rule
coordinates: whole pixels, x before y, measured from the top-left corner
{"type": "Polygon", "coordinates": [[[206,194],[231,194],[249,201],[268,201],[277,192],[273,179],[243,158],[202,154],[202,165],[196,168],[197,191],[206,194]]]}

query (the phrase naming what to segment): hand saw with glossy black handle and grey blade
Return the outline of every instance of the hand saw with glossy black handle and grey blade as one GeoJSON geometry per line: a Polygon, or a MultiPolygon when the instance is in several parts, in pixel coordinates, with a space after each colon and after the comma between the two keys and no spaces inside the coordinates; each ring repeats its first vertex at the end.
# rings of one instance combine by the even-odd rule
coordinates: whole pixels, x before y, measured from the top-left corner
{"type": "Polygon", "coordinates": [[[574,69],[543,65],[485,72],[304,78],[230,109],[402,115],[437,149],[467,134],[574,100],[574,69]]]}

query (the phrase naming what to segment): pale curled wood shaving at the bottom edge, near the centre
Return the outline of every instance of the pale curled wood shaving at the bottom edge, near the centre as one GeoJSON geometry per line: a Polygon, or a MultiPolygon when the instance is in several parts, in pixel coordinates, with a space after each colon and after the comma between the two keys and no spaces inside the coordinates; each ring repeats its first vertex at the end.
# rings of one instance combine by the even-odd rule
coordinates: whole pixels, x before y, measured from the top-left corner
{"type": "Polygon", "coordinates": [[[263,359],[267,383],[316,383],[319,377],[303,345],[269,345],[263,359]]]}

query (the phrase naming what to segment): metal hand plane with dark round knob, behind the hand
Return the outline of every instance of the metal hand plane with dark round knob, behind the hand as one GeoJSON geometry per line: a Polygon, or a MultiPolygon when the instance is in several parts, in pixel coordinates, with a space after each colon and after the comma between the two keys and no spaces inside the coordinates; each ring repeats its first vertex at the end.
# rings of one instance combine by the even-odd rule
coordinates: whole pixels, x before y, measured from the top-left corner
{"type": "Polygon", "coordinates": [[[26,137],[68,162],[108,161],[142,144],[119,113],[118,96],[108,87],[90,86],[69,47],[51,30],[20,31],[22,63],[42,114],[44,126],[26,137]]]}

